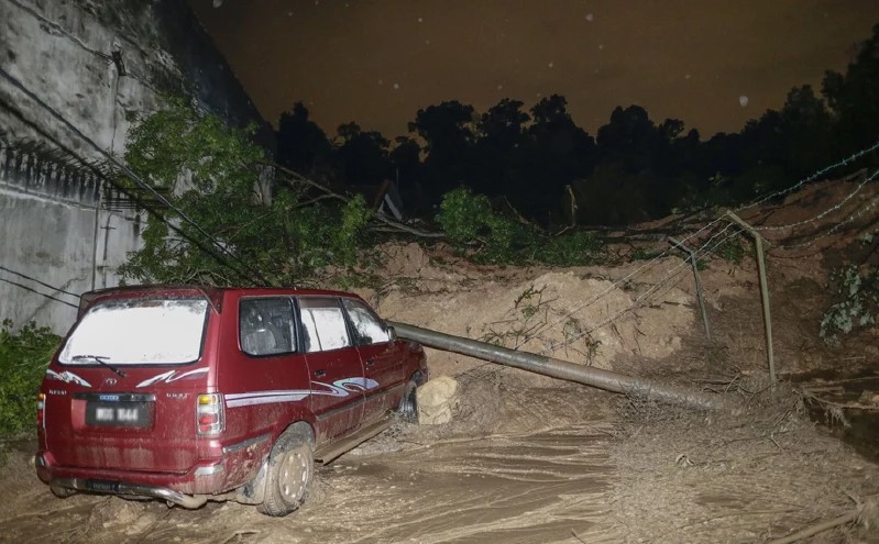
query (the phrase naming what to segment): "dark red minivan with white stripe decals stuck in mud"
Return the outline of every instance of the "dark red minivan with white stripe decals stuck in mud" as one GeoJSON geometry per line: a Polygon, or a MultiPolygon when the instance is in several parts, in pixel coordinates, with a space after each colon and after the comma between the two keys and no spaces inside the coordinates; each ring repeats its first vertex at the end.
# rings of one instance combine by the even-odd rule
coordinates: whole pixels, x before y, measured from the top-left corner
{"type": "Polygon", "coordinates": [[[329,463],[417,421],[420,345],[356,295],[135,286],[83,296],[39,397],[52,491],[285,515],[329,463]]]}

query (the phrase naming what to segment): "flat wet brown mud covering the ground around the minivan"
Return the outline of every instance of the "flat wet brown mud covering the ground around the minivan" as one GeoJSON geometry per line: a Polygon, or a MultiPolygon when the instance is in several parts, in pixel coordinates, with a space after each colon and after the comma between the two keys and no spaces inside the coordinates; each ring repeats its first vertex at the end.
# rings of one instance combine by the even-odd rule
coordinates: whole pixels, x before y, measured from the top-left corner
{"type": "MultiPolygon", "coordinates": [[[[466,417],[398,426],[320,469],[309,502],[283,519],[235,503],[56,499],[34,476],[34,444],[19,443],[0,476],[0,541],[763,542],[879,488],[877,466],[804,420],[793,396],[756,398],[740,414],[693,413],[528,380],[501,370],[463,381],[470,402],[504,395],[493,406],[501,419],[531,412],[531,430],[474,434],[466,417]]],[[[875,530],[811,542],[879,542],[875,530]]]]}

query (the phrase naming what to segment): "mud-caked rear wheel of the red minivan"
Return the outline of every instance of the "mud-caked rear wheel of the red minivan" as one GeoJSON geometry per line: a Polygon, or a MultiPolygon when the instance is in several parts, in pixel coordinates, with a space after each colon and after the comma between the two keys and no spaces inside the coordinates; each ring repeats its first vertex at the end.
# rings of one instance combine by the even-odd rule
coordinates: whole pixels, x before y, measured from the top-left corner
{"type": "Polygon", "coordinates": [[[304,433],[284,434],[272,449],[265,475],[265,500],[256,509],[279,518],[298,509],[315,475],[311,441],[304,433]]]}

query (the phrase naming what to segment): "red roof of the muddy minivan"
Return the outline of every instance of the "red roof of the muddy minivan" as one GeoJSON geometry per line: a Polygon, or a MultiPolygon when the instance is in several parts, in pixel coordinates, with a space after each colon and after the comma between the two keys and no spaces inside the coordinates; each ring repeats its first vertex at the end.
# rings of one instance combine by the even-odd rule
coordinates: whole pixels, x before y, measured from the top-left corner
{"type": "Polygon", "coordinates": [[[79,317],[100,300],[123,298],[150,298],[161,296],[202,296],[210,301],[217,312],[222,310],[226,295],[235,297],[272,297],[272,296],[325,296],[325,297],[360,297],[352,292],[331,289],[299,289],[295,287],[208,287],[198,285],[150,284],[123,287],[109,287],[84,292],[79,298],[79,317]]]}

